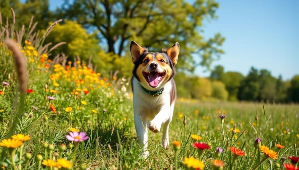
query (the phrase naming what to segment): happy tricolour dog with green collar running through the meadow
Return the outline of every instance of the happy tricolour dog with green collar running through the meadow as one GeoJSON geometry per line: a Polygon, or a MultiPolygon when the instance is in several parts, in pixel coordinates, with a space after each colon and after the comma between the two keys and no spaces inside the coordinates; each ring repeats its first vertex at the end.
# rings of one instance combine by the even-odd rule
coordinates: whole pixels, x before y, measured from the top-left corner
{"type": "Polygon", "coordinates": [[[174,66],[178,60],[180,45],[175,43],[169,49],[162,49],[162,52],[148,52],[147,48],[132,41],[130,51],[134,63],[131,84],[135,129],[143,148],[141,156],[148,157],[148,129],[156,133],[164,124],[162,146],[164,149],[169,146],[168,129],[176,100],[174,66]]]}

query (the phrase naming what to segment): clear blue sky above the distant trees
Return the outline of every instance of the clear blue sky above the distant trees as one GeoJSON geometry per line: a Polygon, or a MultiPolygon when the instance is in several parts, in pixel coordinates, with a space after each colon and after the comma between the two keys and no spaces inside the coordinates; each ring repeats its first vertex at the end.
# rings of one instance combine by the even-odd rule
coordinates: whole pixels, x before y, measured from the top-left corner
{"type": "MultiPolygon", "coordinates": [[[[50,9],[55,10],[63,0],[49,2],[50,9]]],[[[275,77],[281,74],[285,80],[299,74],[299,1],[218,2],[219,18],[205,20],[202,34],[208,39],[220,32],[226,38],[222,46],[225,54],[213,66],[223,65],[225,71],[238,71],[243,75],[254,66],[271,71],[275,77]]],[[[195,73],[209,76],[204,70],[198,67],[195,73]]]]}

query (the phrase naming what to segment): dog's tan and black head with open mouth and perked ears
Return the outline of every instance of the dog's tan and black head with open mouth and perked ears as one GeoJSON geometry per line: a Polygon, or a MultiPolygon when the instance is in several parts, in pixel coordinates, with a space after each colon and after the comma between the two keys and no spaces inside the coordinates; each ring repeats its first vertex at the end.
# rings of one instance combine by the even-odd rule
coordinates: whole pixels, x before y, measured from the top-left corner
{"type": "Polygon", "coordinates": [[[132,62],[134,63],[133,75],[142,86],[148,90],[157,90],[168,82],[176,73],[174,65],[178,60],[180,45],[175,43],[162,52],[148,52],[135,41],[130,46],[132,62]]]}

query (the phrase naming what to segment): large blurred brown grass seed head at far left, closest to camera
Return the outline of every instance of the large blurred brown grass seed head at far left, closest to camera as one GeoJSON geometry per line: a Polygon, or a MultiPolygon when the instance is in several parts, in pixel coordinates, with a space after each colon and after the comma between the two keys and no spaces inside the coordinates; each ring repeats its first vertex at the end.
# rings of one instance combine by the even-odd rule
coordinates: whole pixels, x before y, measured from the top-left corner
{"type": "Polygon", "coordinates": [[[28,79],[25,57],[23,56],[19,47],[13,40],[6,39],[5,43],[7,44],[10,51],[13,53],[13,59],[15,61],[16,71],[17,71],[17,76],[19,81],[19,91],[21,93],[25,93],[27,88],[27,79],[28,79]]]}

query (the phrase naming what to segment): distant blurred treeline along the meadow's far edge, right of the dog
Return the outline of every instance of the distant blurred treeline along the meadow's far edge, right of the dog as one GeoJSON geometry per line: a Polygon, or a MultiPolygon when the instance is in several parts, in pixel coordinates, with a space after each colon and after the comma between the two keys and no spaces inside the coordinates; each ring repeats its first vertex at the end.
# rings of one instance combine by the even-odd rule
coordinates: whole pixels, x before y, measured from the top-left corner
{"type": "Polygon", "coordinates": [[[215,67],[210,77],[176,76],[178,94],[185,98],[229,101],[299,102],[299,75],[283,81],[282,77],[273,77],[265,69],[252,67],[247,76],[239,72],[224,72],[221,65],[215,67]]]}

